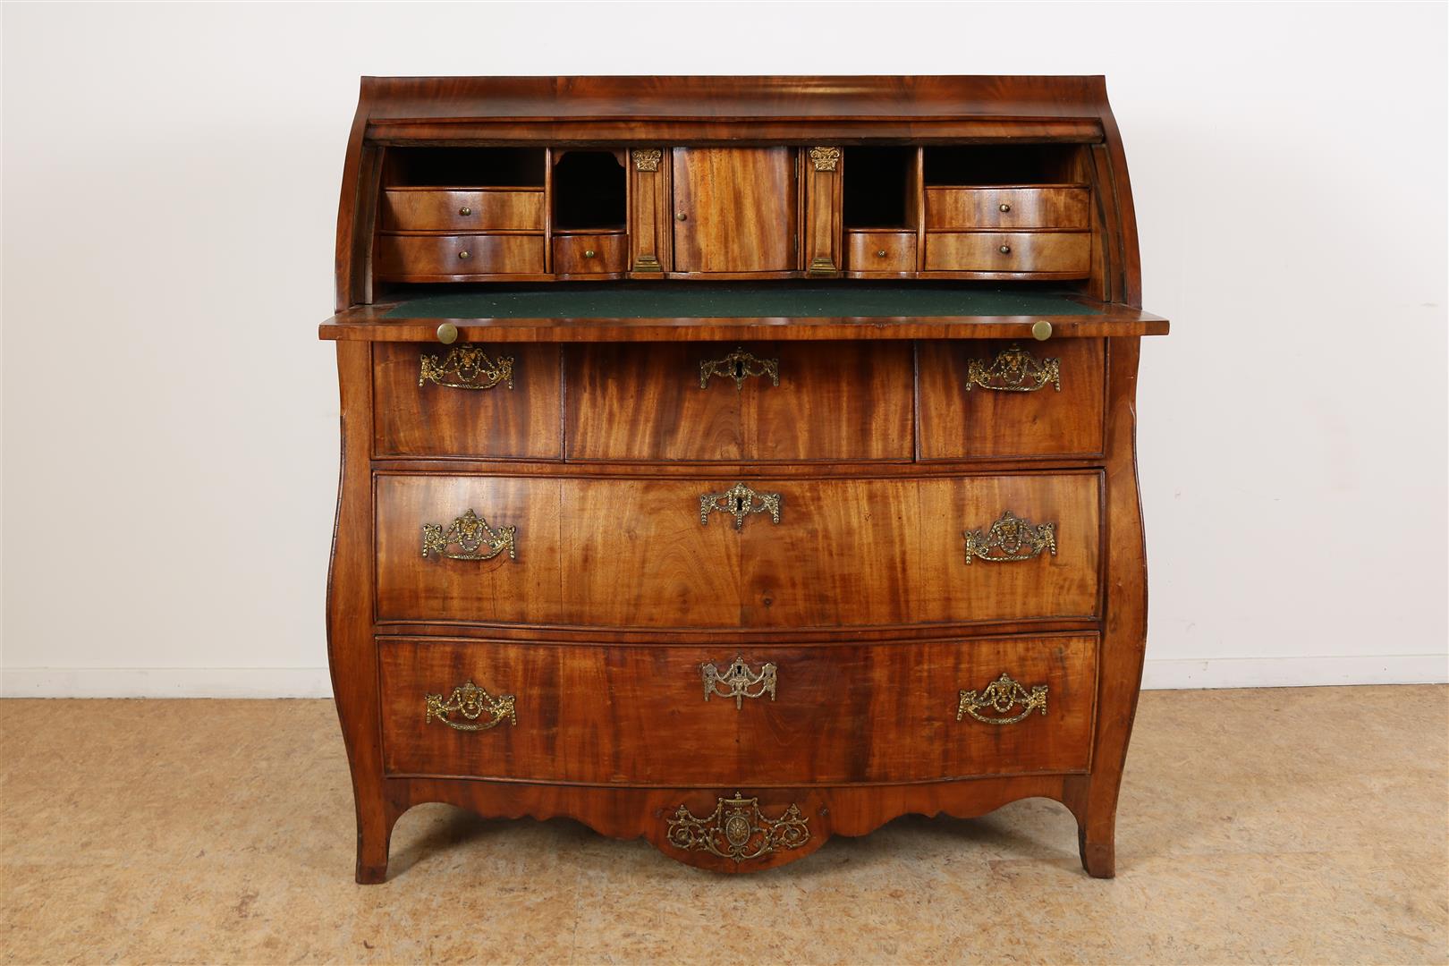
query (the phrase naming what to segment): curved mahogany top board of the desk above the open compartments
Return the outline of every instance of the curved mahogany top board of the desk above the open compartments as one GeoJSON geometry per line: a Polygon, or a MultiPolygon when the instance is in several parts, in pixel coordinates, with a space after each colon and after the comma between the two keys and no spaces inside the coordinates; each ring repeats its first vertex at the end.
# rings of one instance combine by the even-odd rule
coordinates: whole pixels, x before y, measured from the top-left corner
{"type": "Polygon", "coordinates": [[[1100,77],[377,77],[362,100],[378,143],[1091,143],[1110,117],[1100,77]]]}

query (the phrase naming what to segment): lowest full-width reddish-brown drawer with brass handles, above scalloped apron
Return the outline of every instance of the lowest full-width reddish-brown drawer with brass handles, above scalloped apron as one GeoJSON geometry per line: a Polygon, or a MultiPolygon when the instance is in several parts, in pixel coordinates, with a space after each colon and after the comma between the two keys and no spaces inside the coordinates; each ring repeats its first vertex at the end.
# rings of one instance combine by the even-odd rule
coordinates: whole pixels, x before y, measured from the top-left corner
{"type": "Polygon", "coordinates": [[[378,640],[390,775],[839,785],[1084,772],[1097,634],[884,644],[378,640]]]}

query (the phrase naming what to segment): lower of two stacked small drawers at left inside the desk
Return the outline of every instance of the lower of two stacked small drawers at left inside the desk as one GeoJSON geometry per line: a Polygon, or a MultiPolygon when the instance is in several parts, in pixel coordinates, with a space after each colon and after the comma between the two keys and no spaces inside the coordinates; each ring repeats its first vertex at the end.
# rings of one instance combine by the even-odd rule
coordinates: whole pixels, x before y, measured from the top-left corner
{"type": "Polygon", "coordinates": [[[398,281],[542,275],[543,235],[383,235],[378,277],[398,281]]]}

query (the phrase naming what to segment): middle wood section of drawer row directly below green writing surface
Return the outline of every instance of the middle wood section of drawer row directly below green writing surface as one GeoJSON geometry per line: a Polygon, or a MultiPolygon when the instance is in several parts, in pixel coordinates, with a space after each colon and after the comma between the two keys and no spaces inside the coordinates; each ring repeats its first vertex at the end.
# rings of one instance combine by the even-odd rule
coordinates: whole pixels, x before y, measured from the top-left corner
{"type": "Polygon", "coordinates": [[[582,461],[875,461],[911,458],[906,343],[664,343],[565,349],[568,458],[582,461]],[[769,375],[714,375],[742,349],[769,375]]]}

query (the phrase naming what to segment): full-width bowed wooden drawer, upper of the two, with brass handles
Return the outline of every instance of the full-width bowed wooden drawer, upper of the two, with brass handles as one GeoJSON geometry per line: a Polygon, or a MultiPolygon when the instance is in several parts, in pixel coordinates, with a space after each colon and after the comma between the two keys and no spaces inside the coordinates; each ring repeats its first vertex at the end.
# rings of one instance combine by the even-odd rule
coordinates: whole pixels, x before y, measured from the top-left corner
{"type": "Polygon", "coordinates": [[[904,479],[378,474],[384,623],[1091,620],[1098,471],[904,479]]]}

